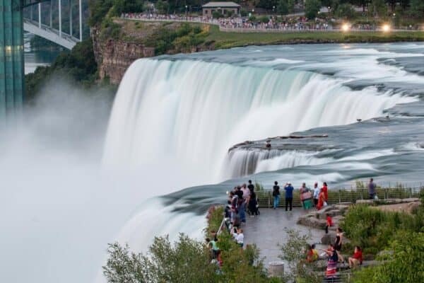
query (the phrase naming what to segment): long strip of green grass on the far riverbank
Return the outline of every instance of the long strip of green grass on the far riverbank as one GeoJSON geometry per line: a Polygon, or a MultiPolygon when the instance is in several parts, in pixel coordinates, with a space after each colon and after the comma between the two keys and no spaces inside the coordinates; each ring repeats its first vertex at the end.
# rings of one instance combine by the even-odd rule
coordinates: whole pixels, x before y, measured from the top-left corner
{"type": "Polygon", "coordinates": [[[211,25],[206,41],[215,42],[216,49],[247,45],[278,45],[294,43],[347,43],[347,42],[406,42],[424,41],[424,32],[285,32],[285,33],[225,33],[211,25]]]}

